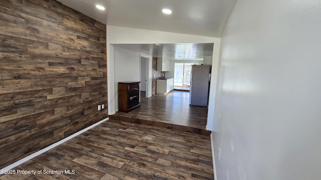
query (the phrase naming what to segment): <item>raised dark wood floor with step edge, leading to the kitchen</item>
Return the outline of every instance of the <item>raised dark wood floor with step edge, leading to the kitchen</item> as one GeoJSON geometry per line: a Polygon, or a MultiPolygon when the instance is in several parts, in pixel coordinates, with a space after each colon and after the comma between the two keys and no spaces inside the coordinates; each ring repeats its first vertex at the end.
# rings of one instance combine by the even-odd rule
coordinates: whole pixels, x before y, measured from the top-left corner
{"type": "Polygon", "coordinates": [[[166,95],[156,94],[149,98],[141,91],[140,107],[130,111],[116,112],[110,119],[171,128],[185,132],[210,135],[206,130],[207,107],[191,106],[190,92],[171,91],[166,95]]]}

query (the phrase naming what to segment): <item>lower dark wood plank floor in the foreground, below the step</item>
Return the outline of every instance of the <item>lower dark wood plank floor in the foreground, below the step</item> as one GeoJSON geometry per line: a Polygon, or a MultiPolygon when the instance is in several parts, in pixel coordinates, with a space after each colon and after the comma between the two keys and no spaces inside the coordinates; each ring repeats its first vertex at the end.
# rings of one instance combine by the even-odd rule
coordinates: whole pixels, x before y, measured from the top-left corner
{"type": "Polygon", "coordinates": [[[0,179],[213,179],[210,137],[107,120],[14,168],[67,169],[75,174],[19,173],[0,179]]]}

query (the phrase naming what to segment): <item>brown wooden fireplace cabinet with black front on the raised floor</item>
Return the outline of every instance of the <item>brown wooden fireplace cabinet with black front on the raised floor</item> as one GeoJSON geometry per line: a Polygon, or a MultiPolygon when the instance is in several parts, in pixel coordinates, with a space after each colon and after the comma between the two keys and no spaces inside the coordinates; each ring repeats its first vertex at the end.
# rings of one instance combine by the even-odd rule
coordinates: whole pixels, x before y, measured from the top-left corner
{"type": "Polygon", "coordinates": [[[118,108],[120,112],[129,112],[140,107],[139,81],[118,82],[118,108]]]}

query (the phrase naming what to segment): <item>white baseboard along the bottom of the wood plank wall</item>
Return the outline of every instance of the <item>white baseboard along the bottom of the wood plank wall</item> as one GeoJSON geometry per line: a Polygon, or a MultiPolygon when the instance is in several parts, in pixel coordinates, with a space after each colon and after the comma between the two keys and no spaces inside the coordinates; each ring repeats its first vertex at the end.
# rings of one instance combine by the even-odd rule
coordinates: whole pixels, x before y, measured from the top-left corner
{"type": "Polygon", "coordinates": [[[42,154],[42,153],[54,148],[54,147],[56,147],[57,145],[60,145],[60,144],[62,144],[64,142],[66,142],[67,140],[70,140],[71,138],[73,138],[73,137],[75,137],[75,136],[77,136],[77,135],[79,135],[79,134],[81,134],[81,133],[93,128],[94,126],[96,126],[96,125],[98,125],[98,124],[100,124],[100,123],[102,123],[102,122],[104,122],[104,121],[106,121],[108,119],[109,119],[108,117],[104,118],[104,119],[100,120],[99,122],[96,122],[96,123],[84,128],[84,129],[82,129],[82,130],[80,130],[80,131],[78,131],[78,132],[76,132],[76,133],[74,133],[72,135],[69,135],[68,137],[66,137],[64,139],[59,140],[56,143],[53,143],[53,144],[49,145],[48,147],[45,147],[45,148],[43,148],[43,149],[41,149],[41,150],[31,154],[31,155],[28,155],[27,157],[25,157],[25,158],[23,158],[21,160],[18,160],[17,162],[14,162],[14,163],[8,165],[7,167],[4,167],[3,169],[0,170],[0,175],[3,174],[4,171],[10,170],[10,169],[12,169],[14,167],[17,167],[18,165],[20,165],[20,164],[22,164],[22,163],[24,163],[24,162],[36,157],[36,156],[38,156],[38,155],[40,155],[40,154],[42,154]]]}

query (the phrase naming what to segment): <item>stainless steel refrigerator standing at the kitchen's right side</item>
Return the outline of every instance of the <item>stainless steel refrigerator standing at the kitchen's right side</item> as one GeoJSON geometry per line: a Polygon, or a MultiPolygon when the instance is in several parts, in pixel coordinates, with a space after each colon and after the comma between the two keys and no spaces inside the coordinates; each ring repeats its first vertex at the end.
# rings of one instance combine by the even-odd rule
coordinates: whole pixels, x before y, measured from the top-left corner
{"type": "Polygon", "coordinates": [[[211,65],[192,65],[190,104],[207,106],[211,65]]]}

